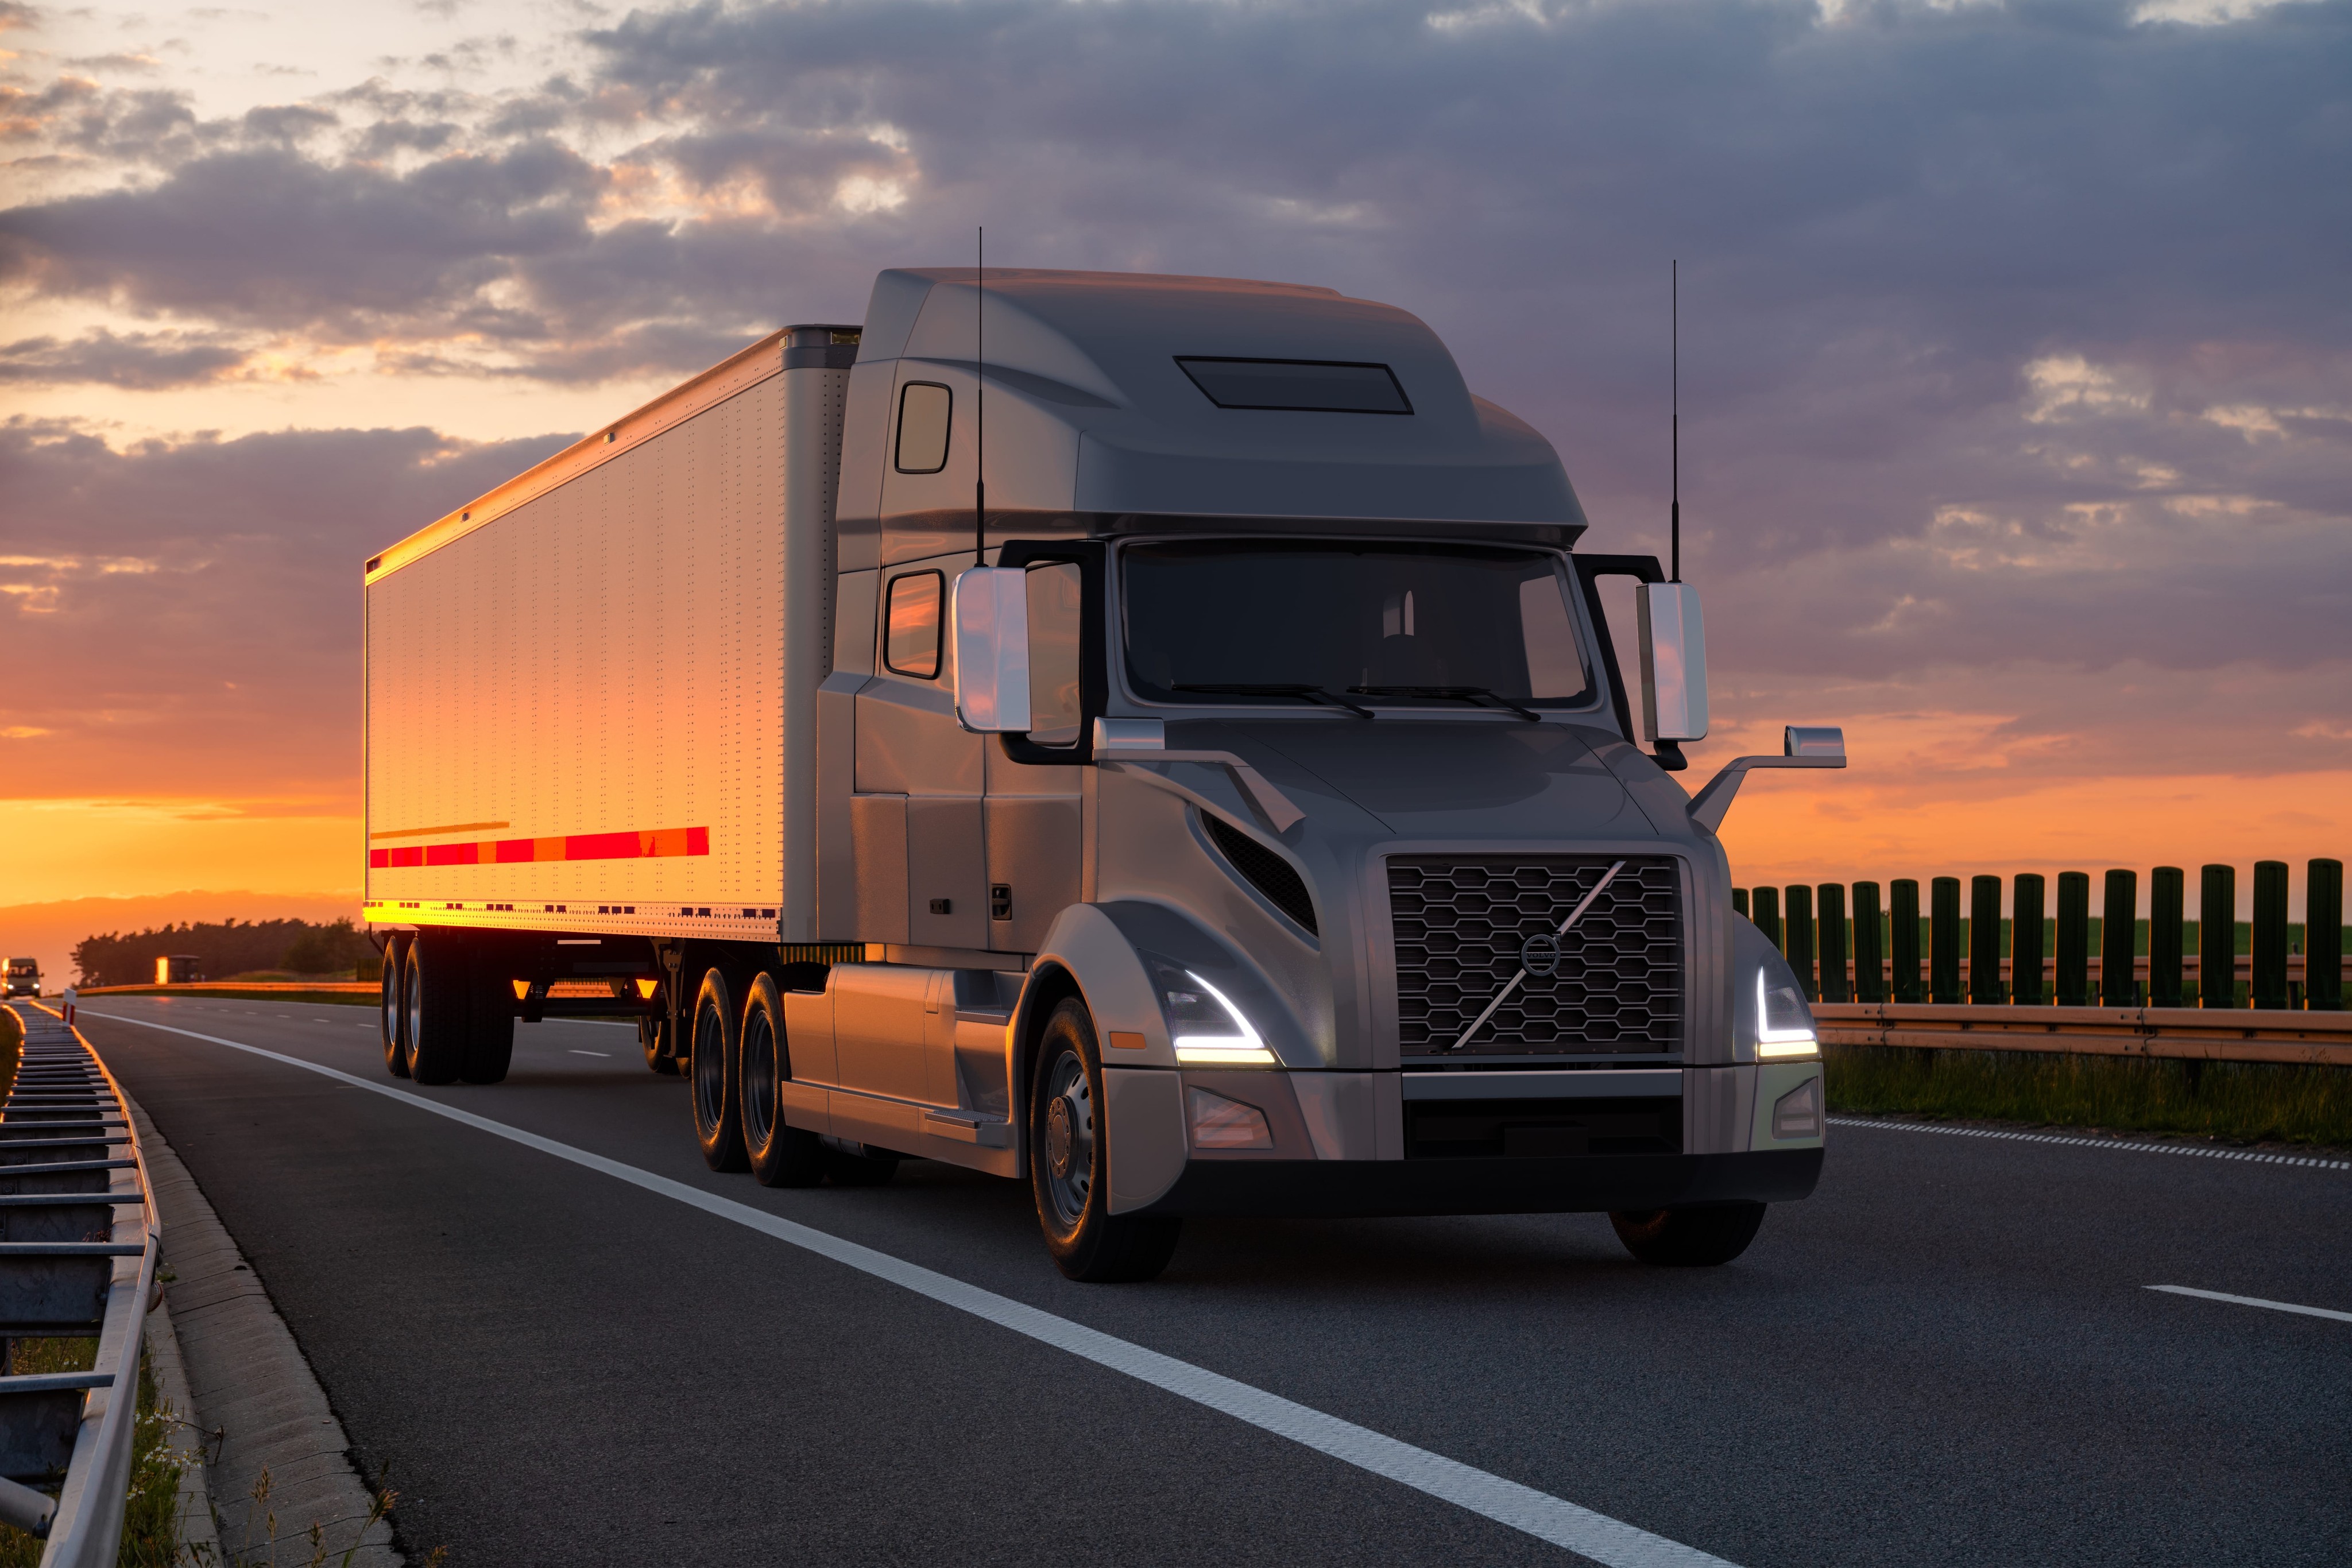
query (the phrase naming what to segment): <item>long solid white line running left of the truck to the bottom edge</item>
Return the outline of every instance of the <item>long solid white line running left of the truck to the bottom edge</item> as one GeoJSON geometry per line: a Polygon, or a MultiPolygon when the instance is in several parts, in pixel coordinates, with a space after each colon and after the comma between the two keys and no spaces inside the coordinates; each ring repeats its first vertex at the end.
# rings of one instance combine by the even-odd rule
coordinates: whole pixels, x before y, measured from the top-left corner
{"type": "Polygon", "coordinates": [[[1357,1427],[1350,1420],[1324,1415],[1322,1410],[1282,1399],[1279,1394],[1268,1394],[1265,1389],[1225,1378],[1223,1373],[1211,1373],[1209,1368],[1192,1366],[1190,1361],[1164,1356],[1157,1349],[1143,1349],[1141,1345],[1112,1338],[1098,1328],[1087,1328],[1084,1324],[1073,1324],[1065,1316],[1054,1316],[1051,1312],[1040,1312],[1037,1307],[1016,1302],[1009,1295],[969,1286],[950,1274],[938,1274],[922,1265],[891,1258],[889,1253],[877,1253],[870,1246],[844,1241],[842,1237],[786,1220],[767,1213],[764,1208],[753,1208],[750,1204],[715,1197],[701,1187],[670,1180],[668,1175],[654,1175],[652,1171],[640,1171],[637,1166],[626,1166],[619,1159],[607,1159],[569,1143],[555,1143],[553,1138],[541,1138],[539,1133],[524,1133],[517,1126],[492,1121],[489,1117],[475,1117],[473,1112],[426,1100],[423,1095],[405,1088],[374,1084],[348,1072],[336,1072],[334,1067],[306,1063],[299,1056],[280,1056],[278,1051],[263,1051],[261,1046],[221,1039],[219,1034],[198,1034],[195,1030],[176,1030],[167,1023],[125,1018],[122,1013],[92,1013],[92,1018],[113,1018],[118,1023],[134,1023],[143,1030],[186,1034],[188,1039],[202,1039],[214,1046],[228,1046],[230,1051],[245,1051],[247,1056],[285,1063],[287,1067],[318,1072],[320,1077],[350,1084],[353,1088],[367,1088],[369,1093],[381,1093],[400,1100],[402,1105],[428,1110],[435,1117],[463,1121],[470,1128],[520,1143],[529,1150],[539,1150],[541,1154],[569,1159],[588,1171],[597,1171],[647,1192],[659,1192],[661,1197],[677,1199],[680,1204],[701,1208],[720,1220],[734,1220],[746,1229],[757,1229],[821,1258],[830,1258],[833,1262],[873,1274],[875,1279],[887,1279],[894,1286],[927,1295],[946,1307],[969,1312],[971,1316],[988,1319],[1000,1328],[1011,1328],[1014,1333],[1051,1345],[1054,1349],[1065,1349],[1073,1356],[1094,1361],[1096,1366],[1127,1373],[1129,1378],[1176,1394],[1178,1399],[1190,1399],[1192,1403],[1209,1406],[1211,1410],[1223,1410],[1225,1415],[1244,1420],[1261,1432],[1287,1436],[1294,1443],[1327,1453],[1334,1460],[1355,1465],[1357,1469],[1369,1469],[1376,1476],[1388,1476],[1390,1481],[1411,1486],[1430,1497],[1454,1502],[1472,1514],[1524,1530],[1536,1540],[1552,1542],[1555,1547],[1566,1547],[1569,1552],[1590,1556],[1609,1568],[1731,1568],[1724,1559],[1710,1556],[1698,1547],[1684,1547],[1679,1540],[1651,1535],[1649,1530],[1611,1519],[1609,1514],[1595,1514],[1592,1509],[1576,1507],[1573,1502],[1550,1493],[1538,1493],[1534,1486],[1519,1486],[1517,1481],[1505,1481],[1503,1476],[1484,1469],[1472,1469],[1461,1460],[1449,1460],[1442,1453],[1399,1443],[1397,1439],[1383,1436],[1371,1427],[1357,1427]]]}

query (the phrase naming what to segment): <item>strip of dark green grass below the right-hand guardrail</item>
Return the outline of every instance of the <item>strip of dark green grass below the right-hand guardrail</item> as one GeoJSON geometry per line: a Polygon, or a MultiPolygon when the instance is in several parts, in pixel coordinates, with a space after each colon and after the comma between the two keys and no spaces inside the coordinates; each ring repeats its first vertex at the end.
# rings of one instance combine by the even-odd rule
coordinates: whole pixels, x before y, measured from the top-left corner
{"type": "Polygon", "coordinates": [[[1832,1112],[2352,1147],[2352,1067],[1830,1046],[1832,1112]]]}

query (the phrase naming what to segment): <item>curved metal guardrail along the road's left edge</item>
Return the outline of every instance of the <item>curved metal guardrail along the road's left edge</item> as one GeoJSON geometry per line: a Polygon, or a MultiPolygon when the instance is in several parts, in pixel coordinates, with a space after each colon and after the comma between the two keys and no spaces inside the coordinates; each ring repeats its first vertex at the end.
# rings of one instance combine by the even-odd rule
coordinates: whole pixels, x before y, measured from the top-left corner
{"type": "Polygon", "coordinates": [[[87,1373],[0,1371],[0,1519],[47,1540],[42,1568],[111,1568],[162,1225],[106,1063],[56,1013],[9,1011],[24,1056],[0,1105],[0,1342],[96,1338],[99,1354],[87,1373]]]}

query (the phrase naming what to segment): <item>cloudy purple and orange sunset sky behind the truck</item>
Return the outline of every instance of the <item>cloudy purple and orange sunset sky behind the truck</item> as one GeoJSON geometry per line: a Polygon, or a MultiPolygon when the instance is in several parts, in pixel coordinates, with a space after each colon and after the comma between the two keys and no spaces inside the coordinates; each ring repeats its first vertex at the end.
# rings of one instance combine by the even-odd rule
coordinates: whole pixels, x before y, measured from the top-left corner
{"type": "Polygon", "coordinates": [[[1740,882],[2260,856],[2300,900],[2352,849],[2347,2],[0,28],[9,950],[5,905],[355,898],[360,562],[976,223],[1418,313],[1597,550],[1663,550],[1679,256],[1691,780],[1783,722],[1853,757],[1748,785],[1740,882]]]}

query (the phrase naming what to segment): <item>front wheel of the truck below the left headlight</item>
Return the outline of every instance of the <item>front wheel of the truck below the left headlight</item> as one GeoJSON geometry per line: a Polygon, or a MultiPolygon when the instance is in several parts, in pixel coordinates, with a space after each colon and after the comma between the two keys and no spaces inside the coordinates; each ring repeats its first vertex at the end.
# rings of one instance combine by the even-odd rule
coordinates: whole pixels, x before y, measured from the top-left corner
{"type": "Polygon", "coordinates": [[[1110,1147],[1103,1138],[1103,1058],[1094,1018],[1063,999],[1037,1041],[1030,1079],[1030,1190],[1044,1248],[1070,1279],[1157,1279],[1176,1255],[1181,1220],[1110,1213],[1110,1147]]]}

